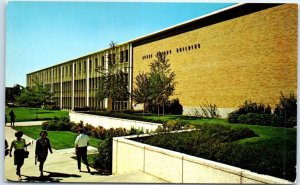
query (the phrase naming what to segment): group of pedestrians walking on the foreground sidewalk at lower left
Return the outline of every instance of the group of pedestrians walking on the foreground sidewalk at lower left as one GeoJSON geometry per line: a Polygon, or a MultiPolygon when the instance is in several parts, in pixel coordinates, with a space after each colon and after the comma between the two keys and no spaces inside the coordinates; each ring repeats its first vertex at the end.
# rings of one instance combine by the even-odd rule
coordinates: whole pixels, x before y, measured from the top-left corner
{"type": "MultiPolygon", "coordinates": [[[[88,172],[90,172],[90,168],[87,161],[87,146],[89,145],[90,138],[84,133],[83,129],[78,130],[79,135],[75,140],[75,152],[77,156],[77,167],[81,172],[81,159],[87,167],[88,172]]],[[[18,175],[19,180],[21,180],[21,167],[24,164],[24,159],[26,158],[25,151],[27,151],[27,146],[31,143],[27,143],[24,138],[22,138],[23,132],[18,131],[15,133],[16,139],[11,142],[9,149],[9,156],[12,157],[12,150],[14,149],[14,165],[17,166],[16,174],[18,175]]],[[[35,146],[35,163],[39,162],[39,171],[40,177],[43,177],[43,168],[44,163],[48,156],[48,151],[52,154],[52,147],[50,144],[50,140],[47,137],[47,131],[41,131],[40,137],[36,140],[35,146]]],[[[5,140],[5,147],[8,148],[7,141],[5,140]]]]}

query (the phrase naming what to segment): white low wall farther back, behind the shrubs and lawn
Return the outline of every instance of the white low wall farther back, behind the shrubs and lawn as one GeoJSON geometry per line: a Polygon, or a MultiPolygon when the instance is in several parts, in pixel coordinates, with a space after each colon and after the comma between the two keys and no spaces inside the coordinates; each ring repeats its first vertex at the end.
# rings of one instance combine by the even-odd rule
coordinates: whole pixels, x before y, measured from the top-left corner
{"type": "Polygon", "coordinates": [[[70,112],[69,117],[70,117],[70,121],[73,121],[75,123],[79,123],[80,121],[83,121],[84,124],[88,123],[95,127],[102,126],[105,129],[121,127],[129,130],[133,127],[136,129],[143,129],[144,131],[148,130],[150,132],[150,131],[155,131],[158,126],[162,126],[162,124],[158,124],[158,123],[111,118],[111,117],[83,114],[77,112],[70,112]]]}

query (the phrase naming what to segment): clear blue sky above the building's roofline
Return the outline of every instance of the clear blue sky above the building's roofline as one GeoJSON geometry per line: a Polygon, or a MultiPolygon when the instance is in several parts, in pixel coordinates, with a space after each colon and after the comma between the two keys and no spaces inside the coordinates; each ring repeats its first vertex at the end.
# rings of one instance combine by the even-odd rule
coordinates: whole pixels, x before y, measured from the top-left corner
{"type": "Polygon", "coordinates": [[[123,43],[234,4],[24,2],[6,6],[5,86],[26,74],[123,43]]]}

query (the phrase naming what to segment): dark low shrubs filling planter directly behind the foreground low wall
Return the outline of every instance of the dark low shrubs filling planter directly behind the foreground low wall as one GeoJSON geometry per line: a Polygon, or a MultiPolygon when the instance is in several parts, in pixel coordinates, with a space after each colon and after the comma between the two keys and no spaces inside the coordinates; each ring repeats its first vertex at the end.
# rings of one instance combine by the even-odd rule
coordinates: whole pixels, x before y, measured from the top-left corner
{"type": "Polygon", "coordinates": [[[255,132],[248,128],[232,129],[230,126],[203,124],[191,132],[160,133],[133,140],[294,181],[296,154],[286,155],[286,151],[277,149],[274,151],[268,146],[272,143],[262,147],[237,142],[255,136],[255,132]]]}

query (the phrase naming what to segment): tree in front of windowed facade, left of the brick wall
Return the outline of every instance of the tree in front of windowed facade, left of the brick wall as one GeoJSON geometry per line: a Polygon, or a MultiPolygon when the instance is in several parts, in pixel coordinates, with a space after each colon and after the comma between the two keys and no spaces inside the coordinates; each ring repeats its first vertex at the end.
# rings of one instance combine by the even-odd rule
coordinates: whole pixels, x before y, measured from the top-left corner
{"type": "Polygon", "coordinates": [[[113,41],[110,43],[110,51],[107,68],[101,66],[96,69],[101,74],[96,99],[111,98],[113,101],[127,101],[129,99],[128,74],[119,67],[120,58],[117,55],[117,43],[113,41]]]}

